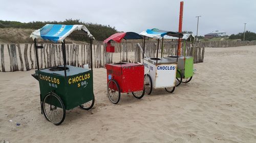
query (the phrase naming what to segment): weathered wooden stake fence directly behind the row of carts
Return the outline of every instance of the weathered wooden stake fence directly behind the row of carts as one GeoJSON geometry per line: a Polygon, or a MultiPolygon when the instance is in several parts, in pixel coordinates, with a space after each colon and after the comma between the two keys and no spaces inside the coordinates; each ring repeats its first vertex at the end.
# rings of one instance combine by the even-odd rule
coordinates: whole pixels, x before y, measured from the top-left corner
{"type": "MultiPolygon", "coordinates": [[[[177,42],[164,42],[163,55],[176,55],[177,42]]],[[[39,68],[48,68],[63,65],[61,44],[45,43],[44,48],[38,49],[39,68]]],[[[106,63],[116,62],[140,62],[142,61],[142,43],[123,42],[113,44],[115,53],[105,52],[105,45],[100,41],[94,41],[92,51],[90,44],[66,44],[67,65],[81,67],[84,64],[91,65],[90,53],[93,55],[94,68],[102,68],[106,63]],[[120,60],[121,59],[121,60],[120,60]]],[[[181,54],[194,57],[195,63],[201,63],[204,59],[204,47],[193,47],[191,43],[182,43],[181,54]]],[[[162,52],[162,43],[159,43],[159,57],[162,52]]],[[[146,57],[156,57],[157,43],[147,41],[145,43],[146,57]]],[[[25,44],[1,44],[1,68],[0,71],[28,71],[37,69],[35,48],[32,43],[25,44]],[[7,68],[10,67],[10,68],[7,68]]]]}

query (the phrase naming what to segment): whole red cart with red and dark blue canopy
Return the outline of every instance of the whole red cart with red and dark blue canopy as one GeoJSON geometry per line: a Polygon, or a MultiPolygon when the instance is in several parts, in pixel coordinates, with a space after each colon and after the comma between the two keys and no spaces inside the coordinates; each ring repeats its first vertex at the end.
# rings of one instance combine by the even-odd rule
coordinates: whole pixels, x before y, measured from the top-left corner
{"type": "MultiPolygon", "coordinates": [[[[106,52],[114,52],[115,47],[111,46],[111,41],[120,43],[124,40],[143,39],[134,32],[116,33],[105,39],[106,52]]],[[[126,46],[125,46],[126,47],[126,46]]],[[[132,92],[133,96],[140,99],[144,96],[144,66],[140,63],[120,62],[115,64],[106,64],[107,91],[110,101],[117,104],[121,93],[132,92]]]]}

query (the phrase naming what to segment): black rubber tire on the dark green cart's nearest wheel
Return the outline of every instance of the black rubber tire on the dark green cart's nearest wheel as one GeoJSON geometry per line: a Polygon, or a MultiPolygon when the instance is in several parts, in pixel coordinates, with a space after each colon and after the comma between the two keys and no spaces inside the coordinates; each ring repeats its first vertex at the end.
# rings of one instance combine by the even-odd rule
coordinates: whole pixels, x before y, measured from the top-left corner
{"type": "MultiPolygon", "coordinates": [[[[54,106],[55,109],[52,109],[52,105],[51,104],[49,104],[49,105],[50,105],[50,112],[53,111],[53,110],[56,110],[57,108],[59,108],[59,107],[54,106]]],[[[42,113],[44,113],[44,116],[47,119],[47,121],[52,122],[54,125],[60,125],[65,120],[66,108],[65,108],[65,105],[63,104],[61,98],[56,93],[48,93],[46,95],[46,97],[44,98],[44,100],[42,100],[42,113]],[[57,99],[56,101],[58,101],[60,103],[61,107],[62,107],[61,109],[62,109],[63,113],[62,113],[62,116],[60,116],[61,119],[59,121],[57,121],[57,122],[53,122],[53,120],[48,117],[48,115],[47,115],[48,113],[46,113],[47,112],[46,111],[46,104],[48,104],[48,103],[46,103],[46,100],[48,98],[55,98],[55,100],[57,99]]],[[[58,114],[56,113],[56,115],[58,115],[58,114]]]]}

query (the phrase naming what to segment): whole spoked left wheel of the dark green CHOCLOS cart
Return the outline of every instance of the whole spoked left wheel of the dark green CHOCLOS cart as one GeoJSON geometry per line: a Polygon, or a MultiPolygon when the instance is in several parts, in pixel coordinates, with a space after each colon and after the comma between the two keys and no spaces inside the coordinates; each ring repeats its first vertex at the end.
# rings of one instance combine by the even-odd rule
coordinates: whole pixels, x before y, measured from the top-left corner
{"type": "Polygon", "coordinates": [[[55,93],[48,93],[42,101],[42,112],[45,118],[54,125],[60,125],[66,117],[66,108],[60,97],[55,93]]]}

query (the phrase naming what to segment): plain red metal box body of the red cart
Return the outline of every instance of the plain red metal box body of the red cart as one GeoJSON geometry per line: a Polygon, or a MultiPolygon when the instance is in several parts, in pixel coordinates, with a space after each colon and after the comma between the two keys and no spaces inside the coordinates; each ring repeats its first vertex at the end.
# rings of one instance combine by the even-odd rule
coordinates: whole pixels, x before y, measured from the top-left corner
{"type": "MultiPolygon", "coordinates": [[[[142,91],[144,84],[144,66],[135,63],[106,65],[107,79],[115,79],[121,93],[142,91]]],[[[115,89],[116,90],[116,89],[115,89]]]]}

